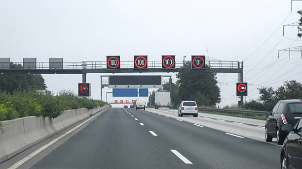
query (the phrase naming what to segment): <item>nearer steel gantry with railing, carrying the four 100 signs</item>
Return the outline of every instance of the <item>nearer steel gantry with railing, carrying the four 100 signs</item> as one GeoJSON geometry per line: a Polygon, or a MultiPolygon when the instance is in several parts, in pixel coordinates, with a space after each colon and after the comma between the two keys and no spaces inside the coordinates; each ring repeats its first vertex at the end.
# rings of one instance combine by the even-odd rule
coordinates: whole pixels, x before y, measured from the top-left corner
{"type": "MultiPolygon", "coordinates": [[[[148,69],[134,69],[134,61],[120,61],[120,69],[108,70],[106,61],[81,61],[81,62],[60,62],[57,64],[52,62],[35,62],[23,63],[14,62],[19,66],[5,67],[7,63],[0,62],[0,73],[3,74],[82,74],[82,83],[86,83],[87,73],[177,73],[177,72],[200,72],[200,73],[238,73],[240,74],[240,82],[243,82],[243,61],[227,61],[227,60],[206,60],[205,69],[191,69],[189,60],[176,60],[175,69],[162,69],[161,61],[149,61],[148,69]],[[36,67],[33,69],[33,64],[36,67]],[[27,69],[25,68],[27,67],[27,69]]],[[[101,80],[102,83],[102,80],[101,80]]],[[[171,88],[171,87],[170,87],[171,88]]],[[[241,106],[243,106],[243,96],[240,98],[241,106]]]]}

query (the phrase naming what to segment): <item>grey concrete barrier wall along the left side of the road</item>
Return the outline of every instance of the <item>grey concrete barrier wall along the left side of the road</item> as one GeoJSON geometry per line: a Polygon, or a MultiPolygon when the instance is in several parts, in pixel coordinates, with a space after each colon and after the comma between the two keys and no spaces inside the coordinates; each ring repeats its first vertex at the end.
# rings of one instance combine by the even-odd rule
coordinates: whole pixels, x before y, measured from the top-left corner
{"type": "Polygon", "coordinates": [[[0,163],[64,130],[91,114],[110,108],[109,105],[88,110],[86,108],[64,111],[56,118],[29,116],[2,121],[0,132],[0,163]]]}

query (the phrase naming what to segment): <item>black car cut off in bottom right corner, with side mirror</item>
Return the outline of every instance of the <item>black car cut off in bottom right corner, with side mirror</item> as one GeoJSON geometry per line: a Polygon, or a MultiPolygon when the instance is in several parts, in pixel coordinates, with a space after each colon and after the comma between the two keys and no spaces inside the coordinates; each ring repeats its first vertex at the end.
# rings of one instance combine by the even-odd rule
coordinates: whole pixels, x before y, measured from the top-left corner
{"type": "Polygon", "coordinates": [[[284,124],[282,131],[288,132],[281,149],[281,169],[302,169],[302,119],[293,124],[284,124]]]}

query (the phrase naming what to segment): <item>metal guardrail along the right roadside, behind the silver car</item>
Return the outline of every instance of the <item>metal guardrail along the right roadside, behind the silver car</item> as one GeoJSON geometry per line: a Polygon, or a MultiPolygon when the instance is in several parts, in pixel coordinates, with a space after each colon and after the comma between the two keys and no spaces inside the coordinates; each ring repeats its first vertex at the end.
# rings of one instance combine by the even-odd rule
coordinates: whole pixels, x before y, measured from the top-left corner
{"type": "MultiPolygon", "coordinates": [[[[179,106],[170,106],[172,109],[178,109],[179,106]]],[[[231,113],[231,114],[247,114],[247,115],[265,115],[264,111],[234,110],[234,109],[215,109],[215,108],[198,108],[199,111],[231,113]]]]}

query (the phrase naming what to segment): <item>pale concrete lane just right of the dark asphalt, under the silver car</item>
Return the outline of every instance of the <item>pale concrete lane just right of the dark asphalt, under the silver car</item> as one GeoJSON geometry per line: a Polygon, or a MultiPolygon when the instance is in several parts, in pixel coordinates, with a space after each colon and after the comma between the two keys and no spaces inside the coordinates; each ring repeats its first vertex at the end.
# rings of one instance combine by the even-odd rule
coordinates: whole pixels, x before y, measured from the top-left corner
{"type": "MultiPolygon", "coordinates": [[[[233,134],[242,135],[244,137],[255,139],[258,141],[264,141],[265,142],[265,130],[263,126],[254,126],[254,125],[247,125],[245,123],[239,123],[239,122],[229,122],[229,121],[222,121],[218,119],[212,119],[209,117],[192,117],[192,116],[183,116],[179,117],[177,113],[167,113],[164,111],[158,111],[158,110],[148,110],[152,113],[159,113],[165,116],[170,116],[172,118],[181,119],[190,123],[200,124],[204,125],[206,127],[210,127],[213,129],[221,130],[224,132],[231,132],[233,134]]],[[[275,139],[273,140],[273,144],[275,139]]]]}

